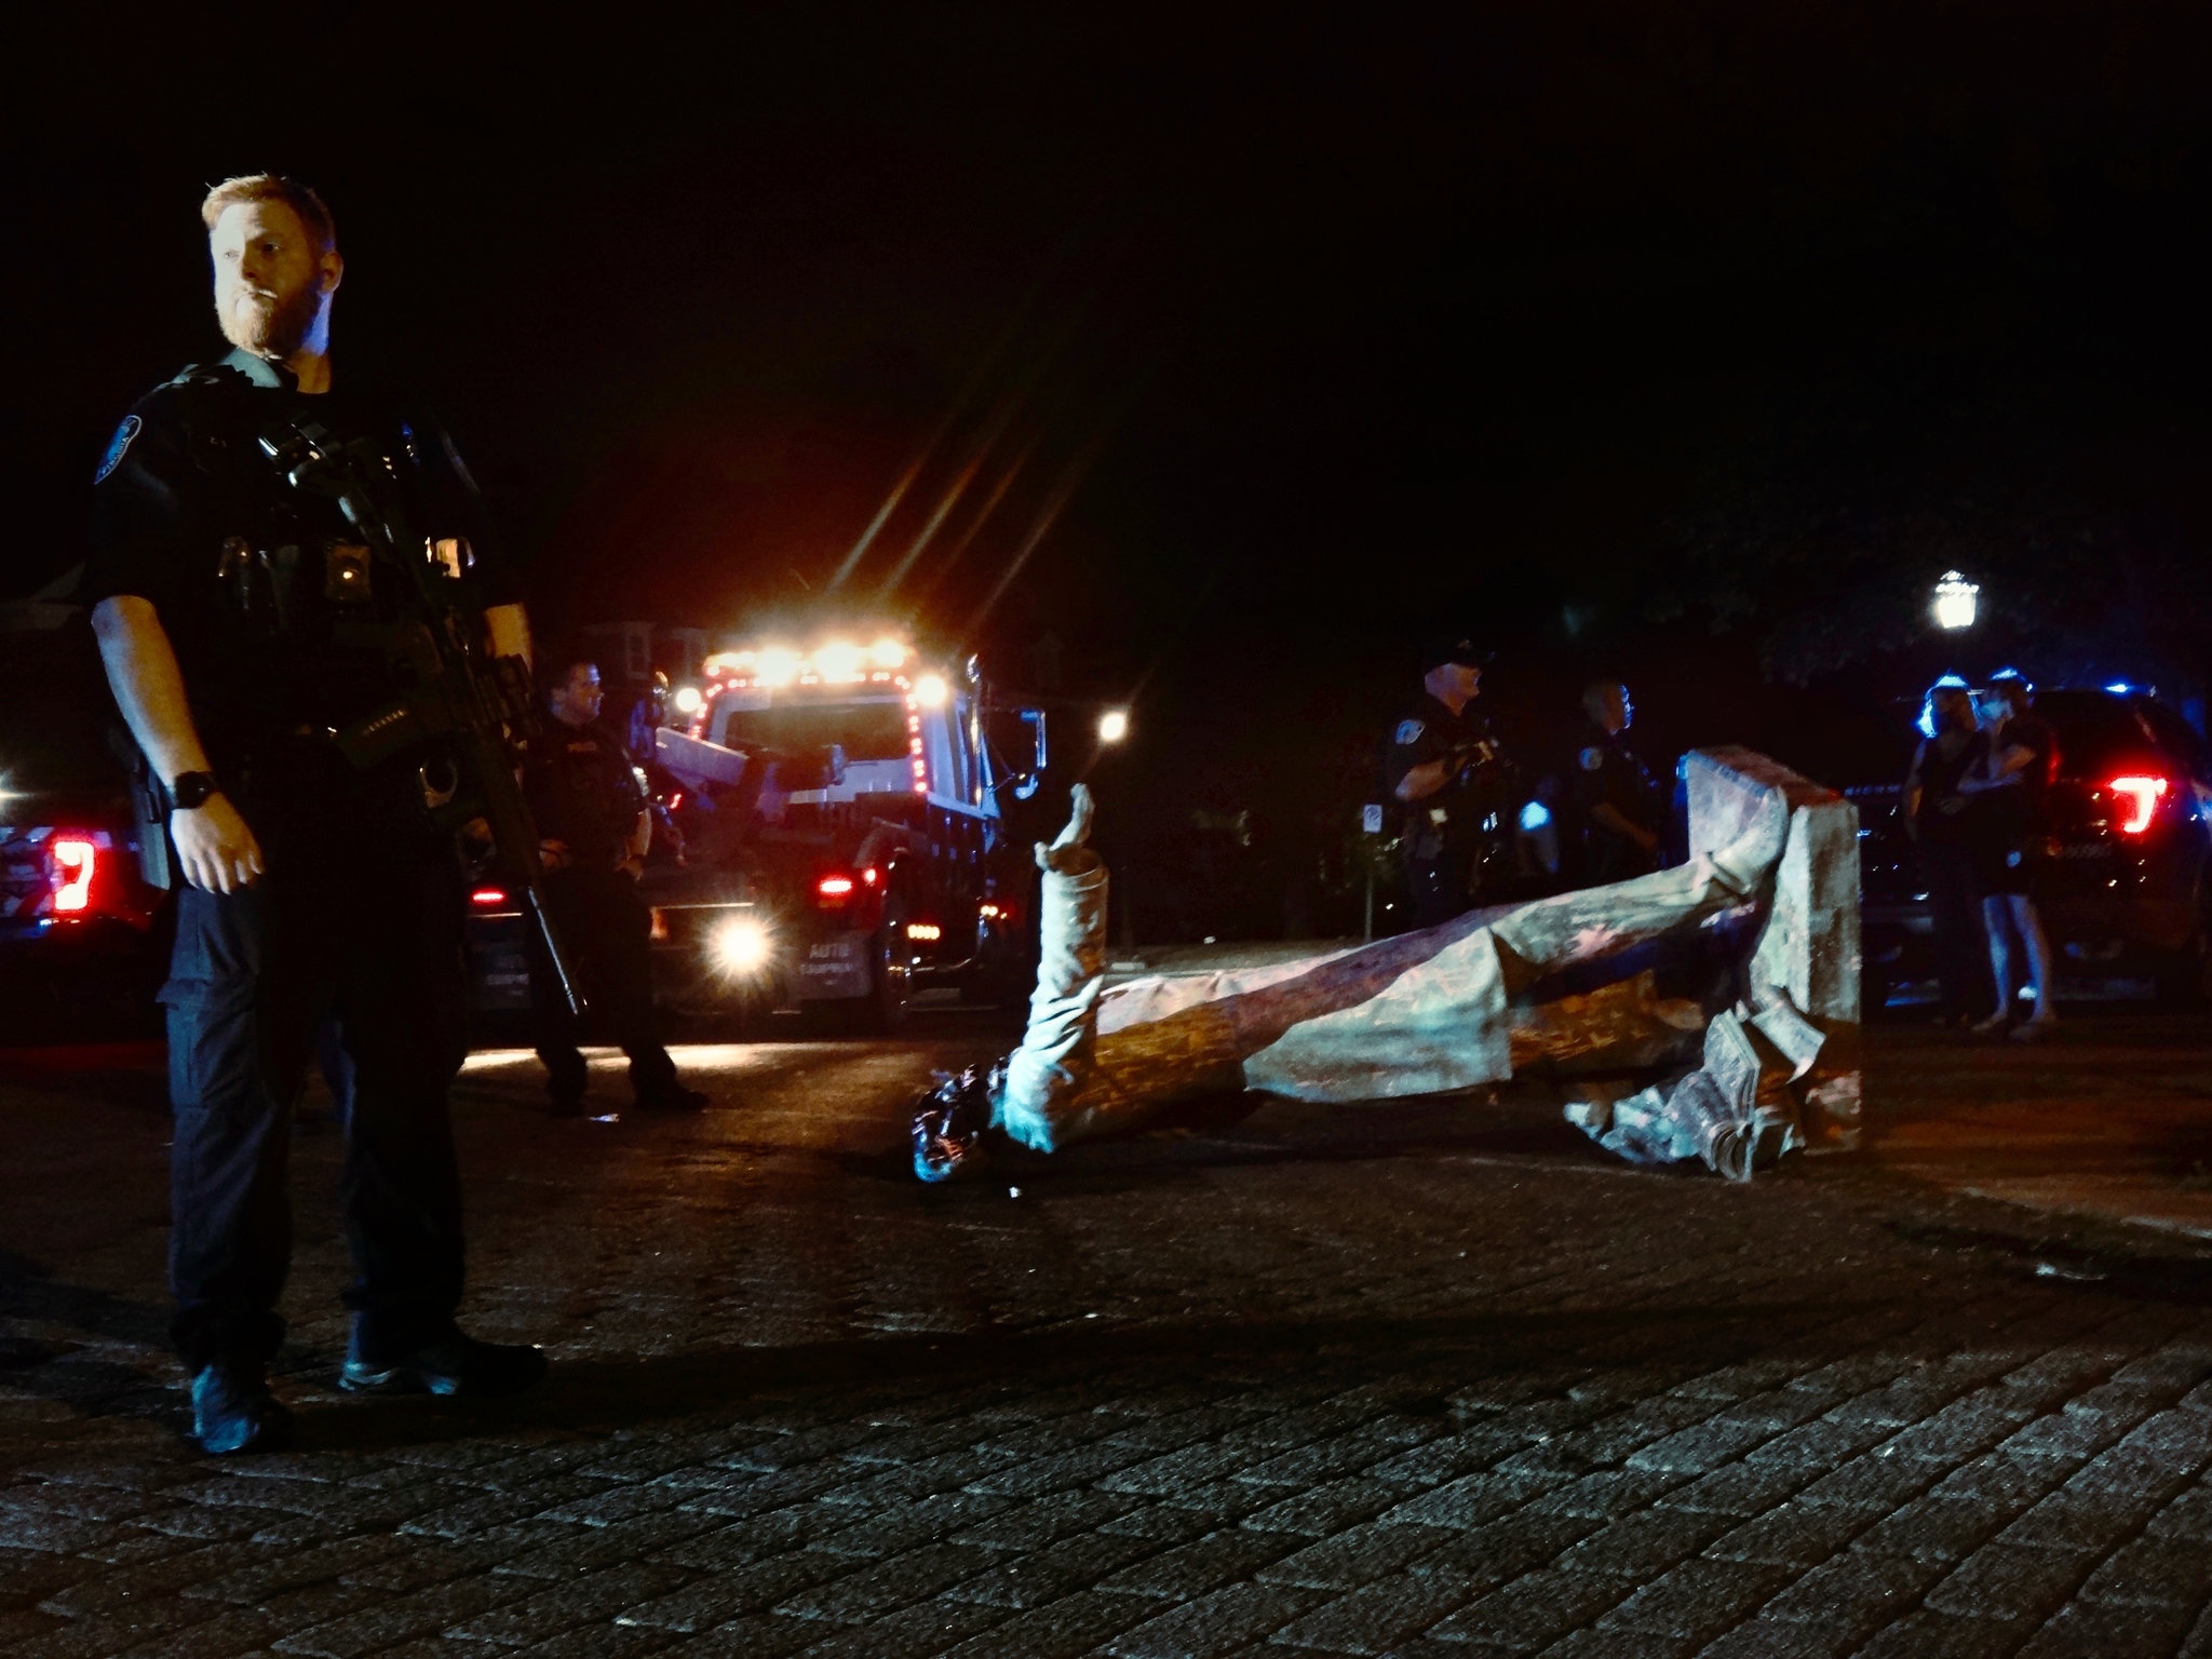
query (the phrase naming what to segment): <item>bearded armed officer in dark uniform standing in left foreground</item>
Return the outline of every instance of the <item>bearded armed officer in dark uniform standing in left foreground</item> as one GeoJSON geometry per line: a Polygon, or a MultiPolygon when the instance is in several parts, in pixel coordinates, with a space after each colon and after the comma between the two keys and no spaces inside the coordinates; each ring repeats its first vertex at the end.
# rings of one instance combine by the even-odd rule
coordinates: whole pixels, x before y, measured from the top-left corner
{"type": "Polygon", "coordinates": [[[387,646],[411,591],[257,445],[301,414],[378,445],[489,644],[526,653],[522,606],[462,540],[467,476],[436,427],[332,392],[330,212],[259,175],[201,217],[237,347],[142,398],[93,489],[86,602],[108,684],[164,792],[186,889],[161,989],[175,1104],[170,1285],[192,1425],[265,1449],[288,1416],[265,1367],[292,1252],[290,1102],[325,1018],[354,1071],[338,1197],[354,1283],[349,1389],[504,1394],[535,1347],[462,1336],[460,1177],[447,1082],[460,1029],[460,894],[414,757],[356,772],[332,734],[394,701],[387,646]]]}

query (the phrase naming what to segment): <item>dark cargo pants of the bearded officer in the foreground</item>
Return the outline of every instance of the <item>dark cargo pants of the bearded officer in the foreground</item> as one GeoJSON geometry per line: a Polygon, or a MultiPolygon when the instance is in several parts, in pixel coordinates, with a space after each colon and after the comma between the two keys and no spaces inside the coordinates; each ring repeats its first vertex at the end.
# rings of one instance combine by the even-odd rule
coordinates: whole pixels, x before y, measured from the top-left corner
{"type": "Polygon", "coordinates": [[[462,1287],[447,1084],[462,1044],[451,860],[354,832],[263,834],[270,872],[239,894],[184,889],[168,1006],[170,1290],[195,1369],[265,1360],[292,1256],[285,1155],[316,1029],[354,1071],[338,1201],[345,1303],[372,1356],[451,1323],[462,1287]]]}

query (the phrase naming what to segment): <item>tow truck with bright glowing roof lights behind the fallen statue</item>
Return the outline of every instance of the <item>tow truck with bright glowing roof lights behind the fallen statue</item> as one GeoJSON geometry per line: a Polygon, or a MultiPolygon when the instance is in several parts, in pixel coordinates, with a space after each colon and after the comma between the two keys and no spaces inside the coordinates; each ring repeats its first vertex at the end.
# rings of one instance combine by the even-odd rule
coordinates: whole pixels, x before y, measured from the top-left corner
{"type": "MultiPolygon", "coordinates": [[[[891,1031],[927,987],[1026,993],[1033,869],[1006,812],[1035,794],[1046,728],[973,661],[951,675],[905,641],[838,637],[719,653],[653,759],[684,838],[681,865],[641,880],[664,1006],[891,1031]]],[[[473,907],[507,925],[476,929],[478,1002],[520,1006],[520,918],[498,887],[473,907]]]]}

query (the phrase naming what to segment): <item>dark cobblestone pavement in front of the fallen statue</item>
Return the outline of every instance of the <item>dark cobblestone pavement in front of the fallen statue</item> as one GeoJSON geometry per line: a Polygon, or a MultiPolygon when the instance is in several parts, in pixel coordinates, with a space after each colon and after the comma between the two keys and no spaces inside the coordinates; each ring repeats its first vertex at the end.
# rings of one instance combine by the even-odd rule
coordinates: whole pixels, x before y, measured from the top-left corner
{"type": "Polygon", "coordinates": [[[902,1093],[1000,1042],[690,1051],[692,1121],[549,1121],[478,1057],[467,1318],[555,1356],[502,1409],[332,1391],[303,1133],[303,1444],[239,1460],[179,1438],[148,1055],[18,1064],[0,1644],[2212,1652],[2197,1241],[1874,1161],[1641,1175],[1542,1099],[1223,1108],[914,1186],[902,1093]]]}

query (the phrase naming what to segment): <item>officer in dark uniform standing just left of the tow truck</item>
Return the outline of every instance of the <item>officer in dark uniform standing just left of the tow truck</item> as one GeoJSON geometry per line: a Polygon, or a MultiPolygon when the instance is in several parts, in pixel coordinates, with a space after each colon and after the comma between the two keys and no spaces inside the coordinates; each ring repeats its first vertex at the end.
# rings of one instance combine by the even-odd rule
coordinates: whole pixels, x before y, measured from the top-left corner
{"type": "MultiPolygon", "coordinates": [[[[599,719],[599,666],[555,657],[546,690],[553,719],[533,741],[522,772],[538,834],[544,836],[546,907],[564,949],[575,953],[593,1020],[630,1057],[630,1091],[646,1110],[699,1110],[706,1095],[677,1082],[653,1015],[653,911],[637,896],[653,821],[622,734],[599,719]]],[[[531,1009],[538,1057],[555,1117],[584,1110],[584,1055],[577,1020],[553,980],[553,964],[531,933],[531,1009]]]]}

